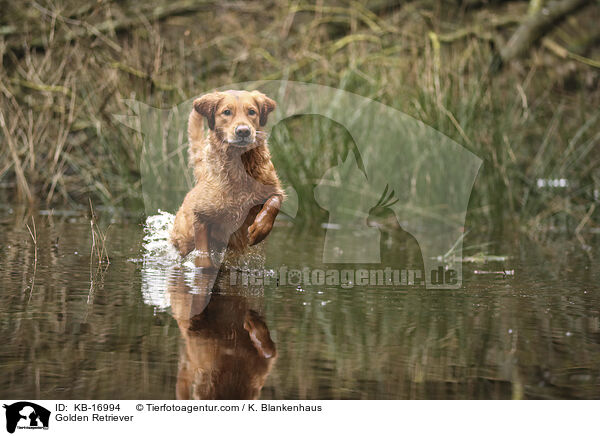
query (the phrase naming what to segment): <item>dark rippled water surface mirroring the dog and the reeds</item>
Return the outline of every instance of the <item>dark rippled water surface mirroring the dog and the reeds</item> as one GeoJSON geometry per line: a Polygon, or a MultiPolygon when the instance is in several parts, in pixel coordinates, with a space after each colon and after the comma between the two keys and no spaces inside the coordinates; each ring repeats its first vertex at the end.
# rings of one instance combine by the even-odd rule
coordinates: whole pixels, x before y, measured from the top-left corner
{"type": "MultiPolygon", "coordinates": [[[[36,245],[28,215],[0,212],[3,398],[600,398],[597,236],[497,238],[484,251],[506,258],[433,291],[238,284],[143,261],[133,220],[110,225],[99,265],[88,219],[34,218],[36,245]]],[[[266,269],[331,268],[323,238],[275,228],[266,269]]],[[[382,241],[384,265],[422,267],[414,240],[382,241]]]]}

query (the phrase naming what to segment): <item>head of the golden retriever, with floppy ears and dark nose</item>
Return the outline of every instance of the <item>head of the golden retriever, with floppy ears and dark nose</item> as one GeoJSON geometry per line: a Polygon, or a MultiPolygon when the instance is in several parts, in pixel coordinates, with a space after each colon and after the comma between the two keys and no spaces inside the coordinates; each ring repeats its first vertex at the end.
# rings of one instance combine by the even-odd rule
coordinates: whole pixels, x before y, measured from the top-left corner
{"type": "Polygon", "coordinates": [[[206,118],[208,127],[222,143],[248,147],[266,136],[275,102],[258,91],[213,92],[194,100],[194,110],[206,118]]]}

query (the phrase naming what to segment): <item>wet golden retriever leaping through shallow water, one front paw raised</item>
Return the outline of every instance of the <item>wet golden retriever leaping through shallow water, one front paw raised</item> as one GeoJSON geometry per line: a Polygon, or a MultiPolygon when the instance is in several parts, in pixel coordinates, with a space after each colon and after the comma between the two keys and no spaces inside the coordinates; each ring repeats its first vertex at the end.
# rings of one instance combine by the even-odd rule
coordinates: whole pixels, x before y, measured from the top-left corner
{"type": "Polygon", "coordinates": [[[194,100],[188,136],[196,185],[177,212],[171,242],[181,256],[198,250],[196,266],[214,267],[213,250],[242,252],[273,227],[284,191],[263,128],[275,106],[258,91],[213,92],[194,100]]]}

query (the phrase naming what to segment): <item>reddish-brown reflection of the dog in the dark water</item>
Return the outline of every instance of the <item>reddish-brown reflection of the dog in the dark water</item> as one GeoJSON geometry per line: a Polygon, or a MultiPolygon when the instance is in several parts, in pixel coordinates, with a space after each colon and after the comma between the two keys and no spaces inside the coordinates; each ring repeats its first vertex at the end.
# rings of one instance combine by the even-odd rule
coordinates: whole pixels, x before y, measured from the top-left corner
{"type": "Polygon", "coordinates": [[[257,399],[276,359],[275,343],[254,309],[261,298],[229,285],[227,271],[197,269],[169,283],[183,345],[177,399],[257,399]],[[251,295],[249,295],[251,294],[251,295]]]}

